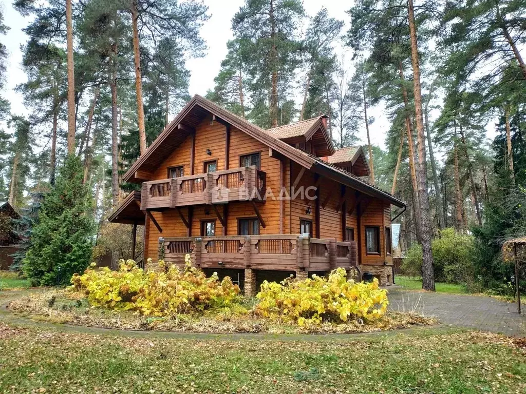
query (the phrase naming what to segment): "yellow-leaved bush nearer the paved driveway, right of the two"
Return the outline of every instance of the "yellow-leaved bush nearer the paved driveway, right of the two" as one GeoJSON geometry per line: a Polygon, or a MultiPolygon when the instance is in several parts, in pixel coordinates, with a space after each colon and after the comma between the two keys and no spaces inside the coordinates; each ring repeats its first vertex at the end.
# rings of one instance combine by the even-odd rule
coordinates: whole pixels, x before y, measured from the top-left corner
{"type": "Polygon", "coordinates": [[[352,319],[376,320],[386,313],[387,292],[372,283],[347,280],[343,268],[332,271],[329,278],[291,278],[279,283],[265,281],[257,298],[256,312],[266,318],[300,326],[321,322],[348,322],[352,319]]]}

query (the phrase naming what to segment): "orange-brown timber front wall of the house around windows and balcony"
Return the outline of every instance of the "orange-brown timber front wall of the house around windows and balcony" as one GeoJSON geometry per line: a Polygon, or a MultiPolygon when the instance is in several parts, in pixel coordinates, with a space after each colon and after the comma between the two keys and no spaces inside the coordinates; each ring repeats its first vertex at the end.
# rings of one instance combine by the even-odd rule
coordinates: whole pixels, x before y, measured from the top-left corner
{"type": "MultiPolygon", "coordinates": [[[[185,141],[169,155],[163,164],[161,164],[155,171],[152,180],[166,179],[168,176],[168,168],[180,165],[184,166],[184,175],[191,175],[190,157],[192,151],[192,139],[192,136],[187,137],[185,141]]],[[[214,160],[217,160],[217,171],[225,170],[225,152],[226,127],[217,121],[211,122],[211,117],[205,119],[196,128],[194,173],[203,173],[204,163],[214,160]],[[211,154],[207,154],[207,149],[210,150],[211,154]]],[[[276,194],[276,198],[279,195],[280,185],[283,185],[287,192],[290,192],[288,188],[290,178],[289,161],[285,160],[281,162],[278,159],[270,157],[269,149],[265,144],[234,127],[230,129],[228,154],[228,164],[230,169],[239,167],[241,155],[256,152],[260,153],[261,170],[266,172],[267,188],[270,188],[272,192],[276,194]]],[[[269,198],[265,203],[256,204],[266,224],[265,228],[260,225],[260,234],[289,233],[290,215],[287,214],[290,209],[289,201],[279,201],[277,199],[273,200],[272,198],[269,198]]],[[[219,213],[223,216],[224,208],[222,204],[218,204],[217,208],[219,213]]],[[[192,211],[192,236],[200,235],[201,220],[215,220],[216,235],[223,235],[223,227],[217,218],[213,206],[197,205],[190,208],[190,210],[192,211]]],[[[189,209],[187,207],[181,208],[181,213],[186,219],[188,219],[189,209]]],[[[153,261],[157,261],[159,237],[187,236],[188,229],[175,209],[163,212],[151,212],[151,214],[153,214],[157,223],[163,229],[163,232],[160,233],[150,220],[146,220],[145,251],[146,258],[150,257],[153,261]]],[[[238,218],[245,217],[256,217],[256,213],[250,202],[240,201],[229,203],[226,215],[227,235],[237,235],[238,218]]],[[[299,232],[299,222],[296,233],[297,232],[299,232]]]]}

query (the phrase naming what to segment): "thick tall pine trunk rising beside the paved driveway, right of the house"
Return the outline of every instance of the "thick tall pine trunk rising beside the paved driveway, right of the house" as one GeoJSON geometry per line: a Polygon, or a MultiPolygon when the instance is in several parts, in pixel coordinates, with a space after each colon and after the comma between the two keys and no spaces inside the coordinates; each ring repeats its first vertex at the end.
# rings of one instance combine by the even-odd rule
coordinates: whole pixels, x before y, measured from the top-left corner
{"type": "Polygon", "coordinates": [[[418,196],[421,210],[422,236],[422,288],[435,291],[433,255],[431,253],[431,220],[429,214],[429,195],[426,185],[426,138],[422,117],[422,91],[420,88],[420,60],[418,58],[417,28],[414,23],[413,0],[408,0],[409,35],[411,37],[411,64],[413,66],[414,107],[417,118],[418,141],[418,196]]]}

